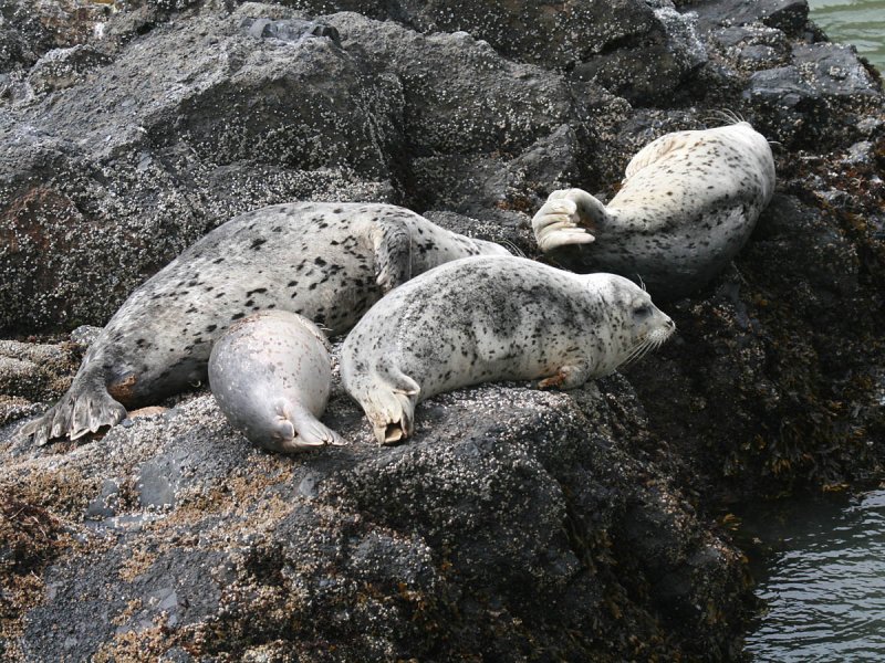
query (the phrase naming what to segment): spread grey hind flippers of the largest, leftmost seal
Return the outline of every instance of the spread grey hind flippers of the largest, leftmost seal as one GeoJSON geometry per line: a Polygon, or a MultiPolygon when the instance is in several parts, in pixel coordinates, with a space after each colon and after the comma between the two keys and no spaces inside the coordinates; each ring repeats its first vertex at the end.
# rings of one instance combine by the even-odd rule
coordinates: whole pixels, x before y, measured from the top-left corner
{"type": "Polygon", "coordinates": [[[40,419],[22,425],[19,436],[33,436],[34,444],[43,446],[63,435],[76,440],[125,418],[126,408],[107,393],[102,376],[87,372],[77,375],[67,392],[40,419]]]}

